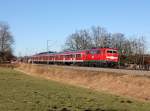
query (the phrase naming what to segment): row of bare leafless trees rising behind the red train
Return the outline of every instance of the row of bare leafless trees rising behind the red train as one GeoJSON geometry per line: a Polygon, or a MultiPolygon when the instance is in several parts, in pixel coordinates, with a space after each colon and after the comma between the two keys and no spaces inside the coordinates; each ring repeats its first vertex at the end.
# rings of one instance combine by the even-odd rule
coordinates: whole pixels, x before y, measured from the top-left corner
{"type": "Polygon", "coordinates": [[[104,27],[93,26],[69,35],[64,45],[64,51],[84,50],[93,47],[117,48],[121,61],[139,63],[142,62],[140,59],[146,53],[145,42],[144,36],[131,38],[123,33],[110,33],[104,27]],[[128,58],[124,58],[124,56],[128,56],[128,58]]]}

